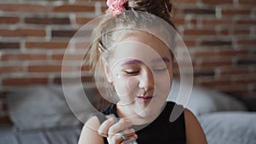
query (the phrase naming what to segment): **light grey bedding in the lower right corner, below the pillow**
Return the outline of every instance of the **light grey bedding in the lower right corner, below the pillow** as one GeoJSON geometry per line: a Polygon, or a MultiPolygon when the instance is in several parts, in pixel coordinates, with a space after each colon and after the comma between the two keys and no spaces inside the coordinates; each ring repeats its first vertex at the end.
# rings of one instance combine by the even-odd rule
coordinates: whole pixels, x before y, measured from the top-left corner
{"type": "Polygon", "coordinates": [[[212,112],[198,119],[208,144],[256,143],[256,112],[212,112]]]}

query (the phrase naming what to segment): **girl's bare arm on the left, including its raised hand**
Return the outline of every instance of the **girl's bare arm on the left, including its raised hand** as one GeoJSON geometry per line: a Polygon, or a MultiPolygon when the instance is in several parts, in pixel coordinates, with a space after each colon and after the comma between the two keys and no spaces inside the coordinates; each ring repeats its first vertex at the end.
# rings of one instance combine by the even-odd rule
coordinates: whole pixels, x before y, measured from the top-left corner
{"type": "Polygon", "coordinates": [[[108,143],[120,144],[124,138],[119,135],[119,131],[124,131],[127,138],[137,139],[135,130],[129,129],[131,122],[121,118],[118,123],[115,123],[113,118],[109,118],[101,125],[96,117],[90,118],[81,132],[79,144],[104,144],[103,136],[107,137],[108,143]]]}

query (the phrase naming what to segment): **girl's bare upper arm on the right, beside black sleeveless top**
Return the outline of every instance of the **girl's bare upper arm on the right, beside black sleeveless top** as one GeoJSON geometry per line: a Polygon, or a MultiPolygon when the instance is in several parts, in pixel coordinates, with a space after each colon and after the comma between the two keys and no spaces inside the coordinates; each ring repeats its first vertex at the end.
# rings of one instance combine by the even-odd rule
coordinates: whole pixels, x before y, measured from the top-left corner
{"type": "Polygon", "coordinates": [[[207,144],[207,138],[195,115],[188,109],[184,110],[187,144],[207,144]]]}

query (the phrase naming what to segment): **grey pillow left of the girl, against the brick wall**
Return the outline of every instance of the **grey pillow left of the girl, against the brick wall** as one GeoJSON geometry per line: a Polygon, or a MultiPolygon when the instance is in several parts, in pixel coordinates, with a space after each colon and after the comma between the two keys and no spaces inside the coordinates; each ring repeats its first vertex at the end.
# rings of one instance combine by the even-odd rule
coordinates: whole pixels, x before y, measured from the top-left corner
{"type": "MultiPolygon", "coordinates": [[[[74,95],[75,96],[75,95],[74,95]]],[[[61,86],[31,86],[7,95],[9,117],[18,130],[80,124],[67,106],[61,86]]]]}

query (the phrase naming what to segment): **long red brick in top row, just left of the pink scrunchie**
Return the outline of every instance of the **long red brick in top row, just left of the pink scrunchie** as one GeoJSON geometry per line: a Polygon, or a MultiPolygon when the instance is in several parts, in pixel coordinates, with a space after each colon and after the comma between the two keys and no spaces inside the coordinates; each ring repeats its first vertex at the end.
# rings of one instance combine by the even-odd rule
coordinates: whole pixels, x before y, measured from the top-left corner
{"type": "Polygon", "coordinates": [[[95,7],[86,5],[72,5],[66,4],[56,6],[52,9],[53,12],[94,12],[95,7]]]}

